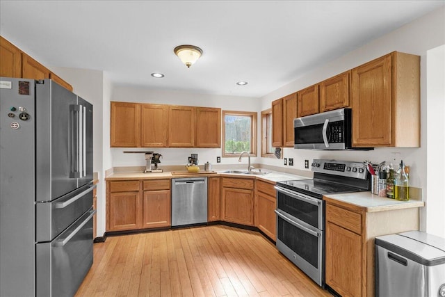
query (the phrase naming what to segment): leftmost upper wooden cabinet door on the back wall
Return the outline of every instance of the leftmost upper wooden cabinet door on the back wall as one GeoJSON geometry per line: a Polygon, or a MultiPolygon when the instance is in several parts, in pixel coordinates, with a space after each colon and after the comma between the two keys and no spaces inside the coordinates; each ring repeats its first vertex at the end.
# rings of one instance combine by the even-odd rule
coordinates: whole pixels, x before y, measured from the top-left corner
{"type": "Polygon", "coordinates": [[[111,147],[140,147],[140,104],[111,102],[111,147]]]}

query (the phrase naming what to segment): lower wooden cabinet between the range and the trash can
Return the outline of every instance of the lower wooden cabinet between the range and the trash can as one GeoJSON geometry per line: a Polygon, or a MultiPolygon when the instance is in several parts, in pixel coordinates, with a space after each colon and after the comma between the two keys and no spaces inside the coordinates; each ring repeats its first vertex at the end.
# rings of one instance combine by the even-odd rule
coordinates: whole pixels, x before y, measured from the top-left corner
{"type": "Polygon", "coordinates": [[[419,230],[419,209],[368,212],[326,201],[325,282],[341,296],[375,296],[375,236],[419,230]]]}

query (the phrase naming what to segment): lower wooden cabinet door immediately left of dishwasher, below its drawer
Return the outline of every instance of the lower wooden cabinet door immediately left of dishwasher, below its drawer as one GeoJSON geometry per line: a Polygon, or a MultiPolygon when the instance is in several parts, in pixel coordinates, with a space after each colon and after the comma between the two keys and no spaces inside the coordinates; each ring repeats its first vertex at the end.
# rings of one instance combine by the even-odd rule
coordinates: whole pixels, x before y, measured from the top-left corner
{"type": "Polygon", "coordinates": [[[144,191],[143,227],[169,227],[171,221],[170,190],[144,191]]]}

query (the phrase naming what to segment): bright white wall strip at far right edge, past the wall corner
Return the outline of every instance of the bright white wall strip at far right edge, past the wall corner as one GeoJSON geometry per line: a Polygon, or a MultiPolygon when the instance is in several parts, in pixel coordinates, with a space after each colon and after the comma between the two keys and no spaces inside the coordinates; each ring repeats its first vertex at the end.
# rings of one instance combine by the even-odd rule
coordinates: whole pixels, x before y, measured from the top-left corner
{"type": "Polygon", "coordinates": [[[445,238],[445,45],[428,51],[426,64],[426,230],[445,238]]]}

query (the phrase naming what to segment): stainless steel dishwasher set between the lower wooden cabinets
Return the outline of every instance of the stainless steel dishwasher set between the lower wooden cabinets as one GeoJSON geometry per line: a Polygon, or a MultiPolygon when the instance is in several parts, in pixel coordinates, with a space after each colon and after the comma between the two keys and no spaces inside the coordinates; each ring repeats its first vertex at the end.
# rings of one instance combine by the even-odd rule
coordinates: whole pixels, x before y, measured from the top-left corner
{"type": "Polygon", "coordinates": [[[207,177],[172,179],[172,227],[207,223],[207,177]]]}

